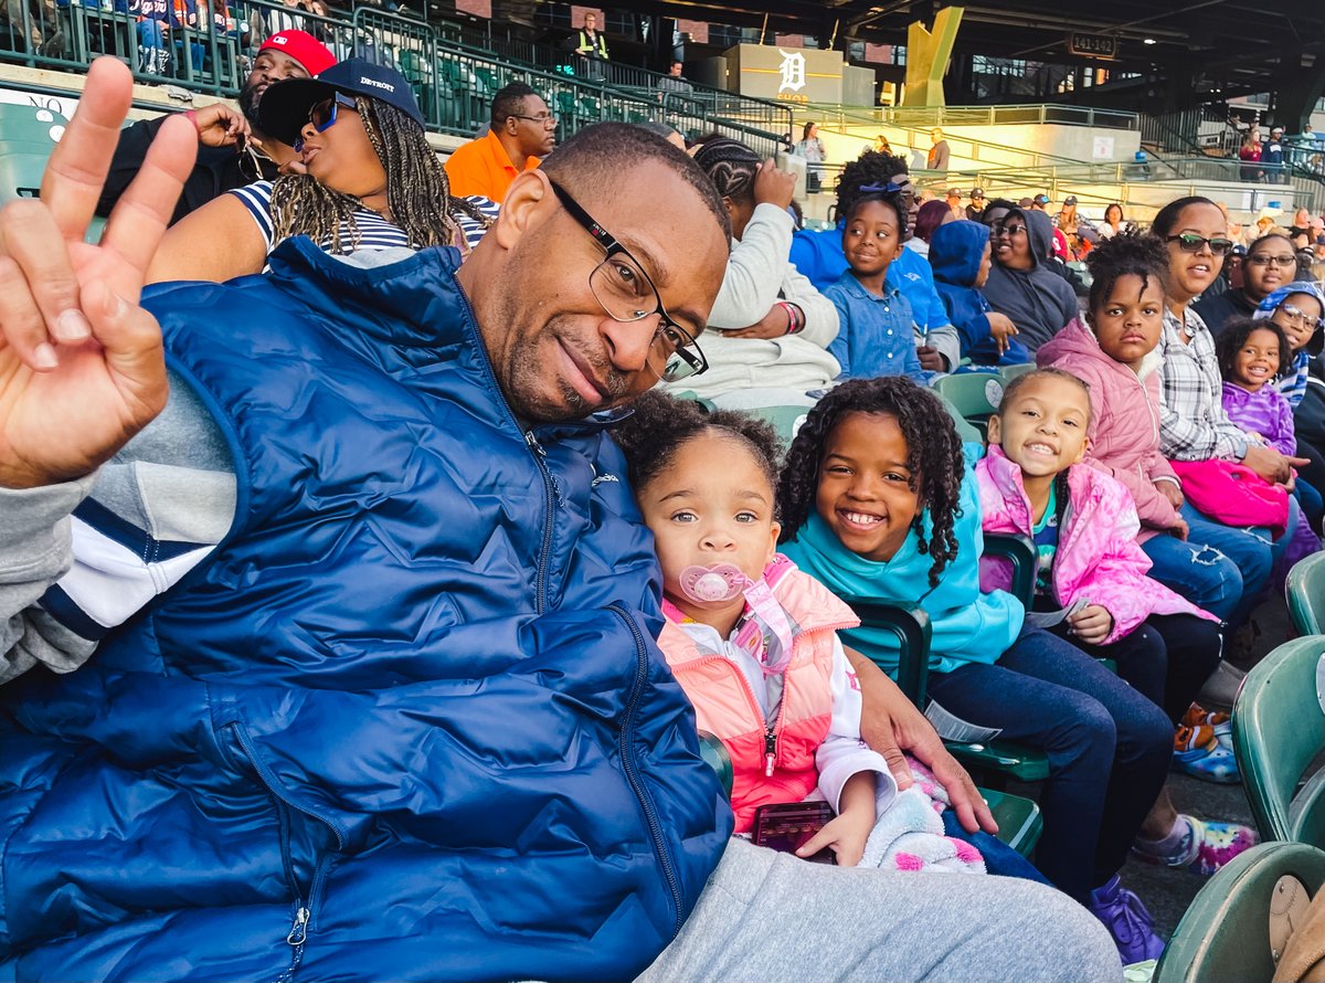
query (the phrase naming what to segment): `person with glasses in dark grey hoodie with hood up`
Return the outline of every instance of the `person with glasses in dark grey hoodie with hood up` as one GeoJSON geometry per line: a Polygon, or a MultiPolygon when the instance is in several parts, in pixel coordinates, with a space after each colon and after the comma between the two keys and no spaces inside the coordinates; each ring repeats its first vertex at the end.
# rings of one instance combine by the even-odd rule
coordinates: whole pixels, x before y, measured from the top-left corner
{"type": "Polygon", "coordinates": [[[1032,208],[1008,209],[990,224],[994,268],[984,299],[1016,325],[1018,340],[1032,352],[1077,315],[1076,293],[1049,266],[1052,242],[1052,220],[1032,208]]]}

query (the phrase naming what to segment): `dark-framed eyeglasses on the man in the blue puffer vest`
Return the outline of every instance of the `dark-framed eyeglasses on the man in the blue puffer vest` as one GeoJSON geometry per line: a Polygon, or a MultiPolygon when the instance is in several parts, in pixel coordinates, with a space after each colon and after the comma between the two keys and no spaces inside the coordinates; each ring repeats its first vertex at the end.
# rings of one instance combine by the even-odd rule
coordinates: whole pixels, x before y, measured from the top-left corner
{"type": "Polygon", "coordinates": [[[649,274],[644,272],[640,261],[631,256],[631,250],[621,245],[611,232],[594,221],[564,188],[555,181],[551,184],[562,207],[607,252],[603,262],[588,274],[588,289],[594,293],[594,299],[598,301],[603,311],[612,321],[623,323],[644,321],[652,314],[659,315],[659,327],[653,333],[649,348],[649,370],[665,383],[700,375],[708,370],[709,362],[700,351],[694,336],[668,315],[662,307],[659,289],[653,285],[649,274]],[[657,358],[659,355],[661,358],[657,358]]]}

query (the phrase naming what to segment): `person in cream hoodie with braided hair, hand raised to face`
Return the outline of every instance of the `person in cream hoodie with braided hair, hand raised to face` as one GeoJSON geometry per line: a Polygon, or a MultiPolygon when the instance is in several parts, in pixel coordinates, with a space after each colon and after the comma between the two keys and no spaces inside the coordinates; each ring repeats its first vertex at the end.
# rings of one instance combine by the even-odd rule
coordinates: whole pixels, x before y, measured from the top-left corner
{"type": "Polygon", "coordinates": [[[673,395],[689,391],[723,409],[814,405],[807,393],[841,371],[828,354],[837,310],[788,258],[795,178],[725,136],[705,139],[694,163],[731,217],[731,257],[704,335],[709,371],[673,395]]]}

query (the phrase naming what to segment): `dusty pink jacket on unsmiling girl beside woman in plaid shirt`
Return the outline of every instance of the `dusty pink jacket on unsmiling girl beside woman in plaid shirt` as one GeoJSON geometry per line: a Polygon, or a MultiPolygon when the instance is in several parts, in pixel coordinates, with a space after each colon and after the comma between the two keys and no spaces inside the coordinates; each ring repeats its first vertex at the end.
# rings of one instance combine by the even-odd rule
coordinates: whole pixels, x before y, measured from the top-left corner
{"type": "Polygon", "coordinates": [[[1138,542],[1171,529],[1178,513],[1154,485],[1165,478],[1182,486],[1159,453],[1159,355],[1146,355],[1138,375],[1105,355],[1090,329],[1076,318],[1040,346],[1035,360],[1041,368],[1071,372],[1090,387],[1086,464],[1132,493],[1142,525],[1138,542]]]}

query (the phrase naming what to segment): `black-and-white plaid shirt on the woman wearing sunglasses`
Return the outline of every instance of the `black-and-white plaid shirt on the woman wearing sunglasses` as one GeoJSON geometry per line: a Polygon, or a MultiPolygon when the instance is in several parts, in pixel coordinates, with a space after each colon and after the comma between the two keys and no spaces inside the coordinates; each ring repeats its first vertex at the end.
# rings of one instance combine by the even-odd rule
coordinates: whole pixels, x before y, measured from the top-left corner
{"type": "Polygon", "coordinates": [[[1163,356],[1159,388],[1159,450],[1178,461],[1211,457],[1240,461],[1247,435],[1224,412],[1224,380],[1215,340],[1190,306],[1179,321],[1167,306],[1157,351],[1163,356]],[[1190,335],[1190,343],[1183,335],[1190,335]]]}

